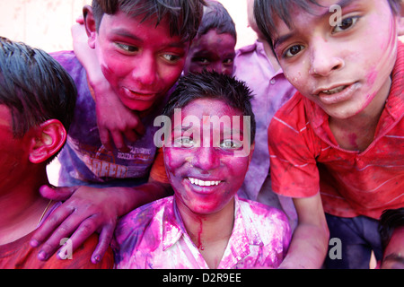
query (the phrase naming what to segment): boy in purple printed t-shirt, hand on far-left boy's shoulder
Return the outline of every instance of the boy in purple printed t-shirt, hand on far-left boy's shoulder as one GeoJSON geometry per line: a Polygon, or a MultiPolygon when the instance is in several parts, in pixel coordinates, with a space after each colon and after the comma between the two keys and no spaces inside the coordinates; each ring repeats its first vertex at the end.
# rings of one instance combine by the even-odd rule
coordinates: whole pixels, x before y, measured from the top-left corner
{"type": "Polygon", "coordinates": [[[53,55],[78,90],[75,117],[59,156],[59,185],[71,188],[42,187],[41,192],[50,198],[74,195],[33,237],[31,244],[38,246],[54,232],[41,248],[40,259],[47,259],[60,239],[73,232],[71,240],[77,246],[98,230],[100,243],[92,255],[98,262],[110,245],[117,217],[170,192],[167,185],[149,177],[156,152],[154,117],[161,114],[167,91],[180,77],[202,4],[202,0],[94,0],[92,7],[83,9],[89,46],[102,74],[145,126],[144,135],[127,143],[129,152],[108,151],[101,144],[94,100],[105,99],[95,98],[75,53],[53,55]]]}

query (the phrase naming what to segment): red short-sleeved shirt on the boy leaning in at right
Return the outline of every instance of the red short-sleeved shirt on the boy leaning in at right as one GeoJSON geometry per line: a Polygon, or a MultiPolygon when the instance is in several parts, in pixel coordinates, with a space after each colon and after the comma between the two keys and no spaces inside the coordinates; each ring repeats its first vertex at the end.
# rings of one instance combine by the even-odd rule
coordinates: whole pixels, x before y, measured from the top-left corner
{"type": "Polygon", "coordinates": [[[321,192],[324,211],[379,219],[404,207],[404,45],[399,44],[391,92],[373,143],[364,152],[338,147],[329,116],[297,92],[268,129],[272,185],[283,196],[321,192]]]}

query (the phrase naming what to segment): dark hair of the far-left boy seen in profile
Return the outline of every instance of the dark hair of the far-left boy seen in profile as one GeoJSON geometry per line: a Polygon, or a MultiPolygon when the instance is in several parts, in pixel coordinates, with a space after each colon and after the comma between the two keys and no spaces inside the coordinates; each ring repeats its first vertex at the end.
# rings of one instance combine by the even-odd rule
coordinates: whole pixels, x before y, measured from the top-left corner
{"type": "Polygon", "coordinates": [[[0,37],[0,104],[11,110],[14,137],[51,118],[68,130],[76,96],[70,75],[46,52],[0,37]]]}

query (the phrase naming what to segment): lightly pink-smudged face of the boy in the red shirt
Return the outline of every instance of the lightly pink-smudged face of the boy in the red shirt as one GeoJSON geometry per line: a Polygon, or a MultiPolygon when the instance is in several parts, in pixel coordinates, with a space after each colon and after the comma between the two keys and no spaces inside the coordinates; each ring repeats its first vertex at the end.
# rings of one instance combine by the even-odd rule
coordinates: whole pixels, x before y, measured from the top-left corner
{"type": "Polygon", "coordinates": [[[277,57],[287,79],[331,118],[379,117],[391,86],[398,17],[387,1],[358,0],[343,7],[342,25],[332,27],[328,7],[337,3],[319,1],[324,8],[313,6],[314,14],[297,9],[292,30],[277,21],[277,57]],[[324,92],[338,87],[344,89],[324,92]]]}

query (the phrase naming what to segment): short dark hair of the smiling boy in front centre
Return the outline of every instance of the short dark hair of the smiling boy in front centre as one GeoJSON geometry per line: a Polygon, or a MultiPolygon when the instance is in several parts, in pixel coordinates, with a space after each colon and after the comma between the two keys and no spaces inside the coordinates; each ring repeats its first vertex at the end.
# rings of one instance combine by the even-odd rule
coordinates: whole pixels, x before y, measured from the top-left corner
{"type": "Polygon", "coordinates": [[[180,78],[163,110],[163,115],[172,117],[174,109],[182,109],[198,99],[223,100],[233,109],[240,110],[243,116],[250,117],[250,143],[254,142],[256,122],[250,102],[251,91],[246,83],[215,71],[189,73],[180,78]]]}

